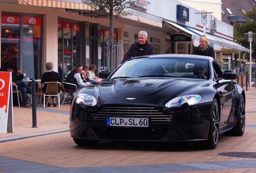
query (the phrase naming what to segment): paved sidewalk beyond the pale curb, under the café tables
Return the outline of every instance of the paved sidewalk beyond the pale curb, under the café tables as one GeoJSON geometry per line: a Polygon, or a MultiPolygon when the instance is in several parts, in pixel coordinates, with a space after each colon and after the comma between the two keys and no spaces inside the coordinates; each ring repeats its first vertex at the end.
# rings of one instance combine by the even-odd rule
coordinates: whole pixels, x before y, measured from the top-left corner
{"type": "MultiPolygon", "coordinates": [[[[246,91],[246,112],[255,111],[254,102],[250,99],[255,99],[256,88],[246,91]]],[[[37,128],[32,128],[32,107],[13,107],[13,133],[0,134],[0,143],[5,141],[12,141],[16,139],[23,139],[27,137],[47,135],[51,133],[58,133],[69,131],[69,109],[70,104],[66,103],[57,107],[40,107],[37,105],[37,128]]],[[[256,120],[246,119],[246,125],[256,125],[256,120]]]]}

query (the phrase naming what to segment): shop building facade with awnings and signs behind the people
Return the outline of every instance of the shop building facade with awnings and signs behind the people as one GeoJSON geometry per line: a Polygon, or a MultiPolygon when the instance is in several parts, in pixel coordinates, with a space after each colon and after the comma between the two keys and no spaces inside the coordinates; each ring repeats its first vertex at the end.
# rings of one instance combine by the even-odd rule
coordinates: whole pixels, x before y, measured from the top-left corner
{"type": "MultiPolygon", "coordinates": [[[[199,45],[204,25],[200,12],[176,0],[139,1],[141,8],[133,14],[114,20],[114,42],[122,40],[121,58],[131,44],[138,41],[138,32],[148,32],[148,42],[156,54],[191,54],[199,45]]],[[[46,62],[63,78],[66,66],[77,63],[95,64],[97,74],[111,68],[107,56],[109,18],[83,16],[91,12],[81,0],[1,0],[1,67],[13,63],[29,78],[41,78],[46,62]],[[58,66],[58,68],[57,68],[58,66]]],[[[207,15],[206,35],[222,64],[222,54],[237,54],[248,49],[233,42],[233,27],[207,15]]],[[[114,69],[111,69],[112,71],[114,69]]]]}

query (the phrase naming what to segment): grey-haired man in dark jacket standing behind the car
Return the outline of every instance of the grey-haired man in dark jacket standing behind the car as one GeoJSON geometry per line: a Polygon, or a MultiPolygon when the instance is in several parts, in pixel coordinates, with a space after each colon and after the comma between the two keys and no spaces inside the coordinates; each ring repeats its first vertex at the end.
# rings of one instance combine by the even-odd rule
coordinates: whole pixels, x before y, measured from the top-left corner
{"type": "Polygon", "coordinates": [[[126,60],[130,59],[131,57],[155,54],[154,47],[151,44],[148,44],[147,39],[147,32],[140,31],[138,33],[138,42],[130,46],[128,52],[124,55],[121,64],[124,63],[126,60]]]}

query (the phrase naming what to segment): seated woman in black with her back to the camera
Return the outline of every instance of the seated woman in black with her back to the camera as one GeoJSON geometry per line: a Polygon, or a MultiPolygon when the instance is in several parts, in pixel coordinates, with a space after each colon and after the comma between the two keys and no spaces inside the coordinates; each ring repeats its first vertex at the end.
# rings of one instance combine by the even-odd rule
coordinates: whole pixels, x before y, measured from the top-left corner
{"type": "MultiPolygon", "coordinates": [[[[45,64],[45,67],[46,67],[46,72],[43,73],[43,76],[41,78],[41,83],[43,83],[43,82],[62,82],[59,74],[53,70],[54,66],[53,66],[52,62],[47,62],[45,64]]],[[[46,87],[47,87],[47,84],[45,84],[42,88],[43,93],[45,93],[46,87]]],[[[58,86],[58,92],[60,92],[60,86],[58,86]]],[[[54,107],[56,107],[57,105],[56,105],[56,101],[55,101],[55,96],[51,96],[51,98],[52,98],[54,107]]],[[[48,103],[47,107],[50,107],[51,102],[50,102],[49,96],[45,96],[45,99],[47,100],[47,103],[48,103]]]]}

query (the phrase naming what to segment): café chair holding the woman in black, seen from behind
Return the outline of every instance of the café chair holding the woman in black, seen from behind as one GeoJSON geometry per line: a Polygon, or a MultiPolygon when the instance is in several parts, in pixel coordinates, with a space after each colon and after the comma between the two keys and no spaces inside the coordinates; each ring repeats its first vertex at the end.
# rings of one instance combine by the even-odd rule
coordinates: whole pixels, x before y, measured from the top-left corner
{"type": "Polygon", "coordinates": [[[61,85],[60,82],[43,82],[41,85],[41,91],[43,86],[47,84],[46,91],[41,95],[41,100],[40,100],[40,106],[42,102],[42,96],[43,96],[43,107],[45,107],[45,96],[57,96],[58,97],[58,104],[60,108],[60,93],[58,92],[58,86],[61,85]]]}

